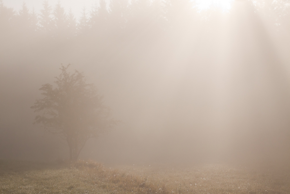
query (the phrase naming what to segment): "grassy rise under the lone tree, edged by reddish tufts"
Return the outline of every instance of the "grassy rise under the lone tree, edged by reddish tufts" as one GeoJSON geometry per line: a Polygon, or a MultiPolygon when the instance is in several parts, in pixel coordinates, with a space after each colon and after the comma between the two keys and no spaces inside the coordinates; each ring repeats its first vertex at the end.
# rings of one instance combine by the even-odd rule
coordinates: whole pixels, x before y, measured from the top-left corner
{"type": "Polygon", "coordinates": [[[44,164],[0,160],[0,193],[162,193],[143,179],[92,161],[44,164]]]}

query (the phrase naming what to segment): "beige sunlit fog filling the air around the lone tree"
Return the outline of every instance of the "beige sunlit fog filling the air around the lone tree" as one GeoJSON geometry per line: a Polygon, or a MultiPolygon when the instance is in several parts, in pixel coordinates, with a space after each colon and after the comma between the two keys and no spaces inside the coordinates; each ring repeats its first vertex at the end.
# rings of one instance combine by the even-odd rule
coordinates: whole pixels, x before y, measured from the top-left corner
{"type": "Polygon", "coordinates": [[[288,1],[104,3],[80,18],[49,4],[47,19],[0,1],[0,158],[68,159],[66,142],[33,124],[30,106],[70,63],[122,121],[88,140],[79,159],[289,163],[288,1]]]}

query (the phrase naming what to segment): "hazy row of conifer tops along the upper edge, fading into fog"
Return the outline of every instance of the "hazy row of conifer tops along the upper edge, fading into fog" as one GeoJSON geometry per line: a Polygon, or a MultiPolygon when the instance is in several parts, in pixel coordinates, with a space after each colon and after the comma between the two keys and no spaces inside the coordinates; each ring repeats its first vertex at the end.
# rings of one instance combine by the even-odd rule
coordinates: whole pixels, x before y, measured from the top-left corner
{"type": "MultiPolygon", "coordinates": [[[[273,17],[276,25],[288,16],[290,3],[280,1],[253,1],[253,6],[264,9],[265,13],[276,13],[273,17]]],[[[67,40],[77,35],[101,35],[107,33],[134,33],[150,28],[164,31],[180,19],[192,20],[197,17],[196,3],[192,0],[105,0],[95,2],[91,8],[82,8],[81,17],[76,18],[71,9],[65,11],[58,1],[50,5],[47,0],[42,3],[39,14],[29,10],[25,1],[17,12],[4,5],[0,0],[0,33],[3,36],[22,38],[41,35],[55,40],[67,40]],[[182,16],[182,18],[180,18],[182,16]],[[23,37],[24,36],[24,37],[23,37]]],[[[200,17],[200,15],[199,15],[200,17]]],[[[200,17],[199,19],[201,19],[200,17]]],[[[6,37],[7,38],[7,37],[6,37]]]]}

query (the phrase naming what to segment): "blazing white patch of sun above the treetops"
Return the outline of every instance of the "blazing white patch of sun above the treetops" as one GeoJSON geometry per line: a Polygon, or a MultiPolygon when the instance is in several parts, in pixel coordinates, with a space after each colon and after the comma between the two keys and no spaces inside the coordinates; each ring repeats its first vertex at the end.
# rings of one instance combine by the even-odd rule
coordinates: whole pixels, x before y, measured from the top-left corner
{"type": "Polygon", "coordinates": [[[231,3],[233,0],[196,0],[196,7],[202,11],[207,10],[211,7],[220,8],[223,11],[231,9],[231,3]]]}

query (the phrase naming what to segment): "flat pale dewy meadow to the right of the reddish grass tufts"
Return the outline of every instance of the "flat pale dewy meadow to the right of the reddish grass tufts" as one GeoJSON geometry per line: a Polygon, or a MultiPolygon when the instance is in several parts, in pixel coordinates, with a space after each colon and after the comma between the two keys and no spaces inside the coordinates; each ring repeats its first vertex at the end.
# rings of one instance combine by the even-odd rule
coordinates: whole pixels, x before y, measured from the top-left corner
{"type": "Polygon", "coordinates": [[[152,183],[163,185],[169,193],[202,194],[289,194],[290,169],[230,167],[200,165],[172,168],[165,165],[119,166],[126,172],[148,177],[152,183]]]}

